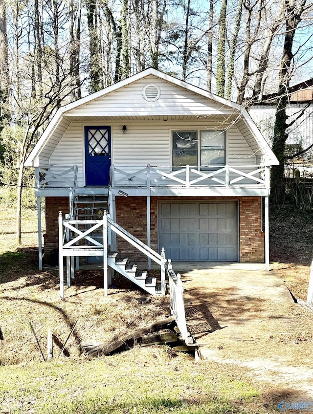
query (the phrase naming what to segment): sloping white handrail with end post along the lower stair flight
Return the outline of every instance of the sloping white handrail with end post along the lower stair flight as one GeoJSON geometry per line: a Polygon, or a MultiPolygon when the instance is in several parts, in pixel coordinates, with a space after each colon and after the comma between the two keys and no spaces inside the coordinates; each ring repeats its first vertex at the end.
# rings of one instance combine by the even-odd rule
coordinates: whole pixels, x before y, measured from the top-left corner
{"type": "Polygon", "coordinates": [[[155,261],[157,264],[161,267],[161,292],[162,295],[165,295],[165,251],[164,248],[162,248],[162,253],[158,254],[153,249],[151,249],[149,246],[147,246],[145,243],[143,243],[141,240],[138,240],[136,237],[134,237],[131,233],[129,233],[127,230],[125,230],[123,227],[115,223],[111,218],[109,218],[105,212],[104,220],[107,220],[108,224],[111,227],[111,230],[116,233],[118,236],[122,237],[124,240],[132,244],[136,249],[138,249],[140,252],[144,253],[147,257],[155,261]]]}

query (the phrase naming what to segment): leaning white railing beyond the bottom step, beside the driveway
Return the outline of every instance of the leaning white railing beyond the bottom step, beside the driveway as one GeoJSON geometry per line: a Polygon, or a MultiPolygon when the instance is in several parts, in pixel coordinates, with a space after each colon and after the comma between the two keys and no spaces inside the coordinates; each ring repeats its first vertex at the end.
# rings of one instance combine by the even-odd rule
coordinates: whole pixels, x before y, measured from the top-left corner
{"type": "Polygon", "coordinates": [[[169,259],[167,265],[167,274],[170,284],[170,306],[171,313],[175,316],[177,326],[179,327],[181,337],[186,345],[193,343],[190,333],[188,332],[185,315],[185,305],[180,274],[177,275],[173,271],[171,260],[169,259]]]}

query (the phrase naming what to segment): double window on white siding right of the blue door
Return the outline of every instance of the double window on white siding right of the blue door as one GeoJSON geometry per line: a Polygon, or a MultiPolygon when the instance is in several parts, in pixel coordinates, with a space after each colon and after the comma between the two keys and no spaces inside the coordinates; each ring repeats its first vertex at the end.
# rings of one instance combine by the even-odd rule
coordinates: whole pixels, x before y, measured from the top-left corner
{"type": "Polygon", "coordinates": [[[173,167],[224,166],[225,139],[224,131],[173,131],[173,167]]]}

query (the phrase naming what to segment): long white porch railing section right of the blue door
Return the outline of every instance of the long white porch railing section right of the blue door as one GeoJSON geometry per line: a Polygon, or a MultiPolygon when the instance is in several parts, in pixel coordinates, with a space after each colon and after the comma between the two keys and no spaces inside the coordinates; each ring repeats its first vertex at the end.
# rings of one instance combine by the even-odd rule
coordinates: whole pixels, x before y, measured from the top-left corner
{"type": "Polygon", "coordinates": [[[198,186],[269,188],[269,167],[230,165],[216,167],[111,166],[112,187],[198,186]]]}

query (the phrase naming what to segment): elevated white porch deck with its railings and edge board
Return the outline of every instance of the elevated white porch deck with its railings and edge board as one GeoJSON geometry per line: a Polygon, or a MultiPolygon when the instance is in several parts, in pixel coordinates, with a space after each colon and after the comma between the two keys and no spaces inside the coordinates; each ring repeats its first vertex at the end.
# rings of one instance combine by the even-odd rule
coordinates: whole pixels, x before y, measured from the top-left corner
{"type": "MultiPolygon", "coordinates": [[[[108,186],[85,186],[76,165],[64,169],[36,167],[36,196],[107,194],[108,186]],[[63,171],[64,170],[64,171],[63,171]]],[[[112,195],[130,196],[268,196],[269,167],[262,165],[215,167],[114,166],[110,170],[112,195]]]]}

